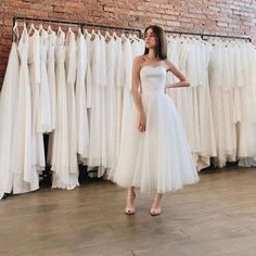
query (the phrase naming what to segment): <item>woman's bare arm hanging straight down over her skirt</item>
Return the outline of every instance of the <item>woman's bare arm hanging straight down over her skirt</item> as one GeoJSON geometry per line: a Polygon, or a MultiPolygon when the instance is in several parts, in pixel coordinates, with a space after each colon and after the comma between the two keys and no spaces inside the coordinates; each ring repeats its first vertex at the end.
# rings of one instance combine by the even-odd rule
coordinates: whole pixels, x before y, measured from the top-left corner
{"type": "Polygon", "coordinates": [[[144,111],[143,111],[141,97],[140,97],[140,92],[139,92],[140,68],[141,68],[142,62],[143,62],[143,59],[141,56],[137,56],[133,60],[132,80],[131,80],[131,95],[133,98],[136,108],[139,112],[139,126],[138,126],[139,131],[144,131],[145,130],[145,114],[144,114],[144,111]]]}

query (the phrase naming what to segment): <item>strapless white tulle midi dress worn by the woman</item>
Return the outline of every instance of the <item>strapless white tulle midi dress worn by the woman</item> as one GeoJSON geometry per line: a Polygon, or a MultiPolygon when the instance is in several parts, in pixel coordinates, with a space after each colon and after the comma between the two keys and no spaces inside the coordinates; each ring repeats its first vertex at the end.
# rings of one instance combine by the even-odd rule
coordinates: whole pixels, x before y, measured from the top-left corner
{"type": "Polygon", "coordinates": [[[165,193],[199,181],[181,120],[164,93],[165,80],[164,66],[143,66],[140,71],[146,128],[145,132],[138,130],[138,112],[133,107],[113,179],[120,187],[165,193]]]}

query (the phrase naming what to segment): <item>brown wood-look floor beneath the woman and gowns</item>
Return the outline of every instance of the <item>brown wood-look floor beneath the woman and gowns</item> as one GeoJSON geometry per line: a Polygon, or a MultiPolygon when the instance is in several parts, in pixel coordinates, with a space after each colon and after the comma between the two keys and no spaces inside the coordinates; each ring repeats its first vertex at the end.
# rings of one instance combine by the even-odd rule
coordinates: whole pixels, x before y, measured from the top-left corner
{"type": "Polygon", "coordinates": [[[139,192],[136,215],[126,216],[126,191],[108,181],[9,196],[0,201],[0,255],[256,255],[256,169],[200,177],[166,194],[157,217],[153,195],[139,192]]]}

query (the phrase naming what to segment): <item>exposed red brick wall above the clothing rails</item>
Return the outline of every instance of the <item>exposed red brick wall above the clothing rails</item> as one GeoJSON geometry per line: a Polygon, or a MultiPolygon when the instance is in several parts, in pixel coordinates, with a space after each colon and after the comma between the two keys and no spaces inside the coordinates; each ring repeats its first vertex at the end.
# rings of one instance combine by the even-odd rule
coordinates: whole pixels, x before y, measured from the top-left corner
{"type": "Polygon", "coordinates": [[[1,0],[0,87],[12,41],[12,17],[49,17],[143,28],[251,36],[256,43],[256,0],[1,0]]]}

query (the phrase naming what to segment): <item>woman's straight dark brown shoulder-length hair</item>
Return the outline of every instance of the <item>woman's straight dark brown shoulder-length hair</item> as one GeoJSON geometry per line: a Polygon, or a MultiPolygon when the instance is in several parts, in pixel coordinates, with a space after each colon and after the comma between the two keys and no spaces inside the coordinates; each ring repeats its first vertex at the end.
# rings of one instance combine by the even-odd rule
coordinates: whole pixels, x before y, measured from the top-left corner
{"type": "MultiPolygon", "coordinates": [[[[152,29],[155,36],[156,47],[155,47],[155,56],[159,57],[161,60],[165,60],[167,57],[167,42],[165,31],[162,27],[157,25],[151,25],[145,28],[145,33],[149,29],[152,29]]],[[[149,49],[145,48],[144,55],[149,53],[149,49]]]]}

